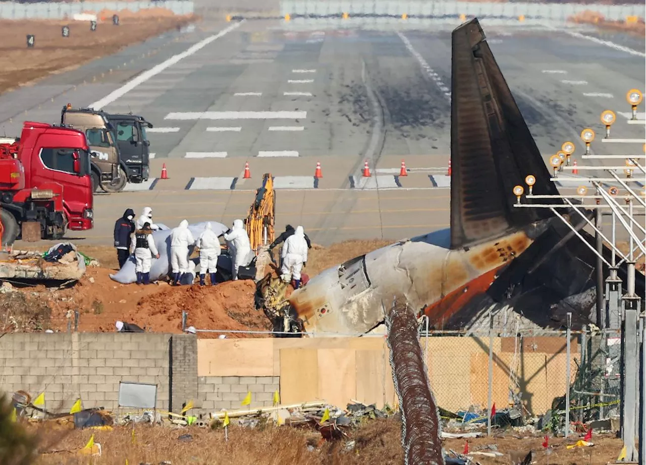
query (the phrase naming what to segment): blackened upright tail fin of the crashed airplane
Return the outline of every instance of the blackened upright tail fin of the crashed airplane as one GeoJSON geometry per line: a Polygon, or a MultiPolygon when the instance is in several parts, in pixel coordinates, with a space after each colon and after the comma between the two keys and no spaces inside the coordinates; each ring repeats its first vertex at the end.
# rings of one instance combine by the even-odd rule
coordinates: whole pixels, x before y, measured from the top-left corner
{"type": "Polygon", "coordinates": [[[451,81],[451,248],[550,218],[513,206],[528,174],[534,194],[558,191],[477,19],[453,30],[451,81]]]}

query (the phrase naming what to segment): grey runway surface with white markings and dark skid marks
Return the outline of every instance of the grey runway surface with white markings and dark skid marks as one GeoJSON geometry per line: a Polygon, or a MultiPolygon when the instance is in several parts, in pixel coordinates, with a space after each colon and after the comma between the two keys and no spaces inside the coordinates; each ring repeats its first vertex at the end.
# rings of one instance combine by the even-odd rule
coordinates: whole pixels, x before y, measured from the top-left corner
{"type": "MultiPolygon", "coordinates": [[[[613,138],[644,138],[643,126],[626,124],[625,94],[646,90],[646,42],[482,23],[546,160],[570,140],[583,164],[584,127],[597,132],[593,154],[643,153],[637,142],[602,143],[599,114],[618,113],[613,138]]],[[[324,245],[410,237],[449,223],[450,32],[458,24],[202,24],[0,96],[0,127],[19,134],[25,119],[59,121],[68,102],[154,123],[151,173],[165,163],[170,179],[95,196],[95,228],[68,234],[79,243],[110,244],[128,207],[150,205],[169,226],[183,218],[231,223],[246,216],[264,173],[275,176],[277,229],[301,224],[324,245]],[[362,177],[366,160],[371,178],[362,177]]]]}

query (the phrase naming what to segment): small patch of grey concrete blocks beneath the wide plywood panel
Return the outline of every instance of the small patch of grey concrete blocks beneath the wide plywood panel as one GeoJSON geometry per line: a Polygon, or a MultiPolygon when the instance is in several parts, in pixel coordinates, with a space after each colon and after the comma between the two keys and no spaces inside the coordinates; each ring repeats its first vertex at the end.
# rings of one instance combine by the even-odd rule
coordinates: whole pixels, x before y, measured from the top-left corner
{"type": "Polygon", "coordinates": [[[270,407],[275,391],[280,392],[280,377],[198,377],[198,397],[202,413],[242,409],[251,391],[251,408],[270,407]]]}

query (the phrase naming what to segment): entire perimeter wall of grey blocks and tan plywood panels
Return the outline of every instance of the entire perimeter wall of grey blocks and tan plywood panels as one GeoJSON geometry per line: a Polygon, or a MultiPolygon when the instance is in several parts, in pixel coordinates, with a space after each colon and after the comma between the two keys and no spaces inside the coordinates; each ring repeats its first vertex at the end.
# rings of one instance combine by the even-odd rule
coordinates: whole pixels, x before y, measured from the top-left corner
{"type": "MultiPolygon", "coordinates": [[[[455,411],[486,408],[488,338],[421,338],[438,404],[455,411]],[[428,348],[427,348],[428,347],[428,348]]],[[[494,338],[493,400],[506,406],[516,384],[535,415],[565,394],[565,337],[494,338]]],[[[579,358],[571,346],[572,379],[579,358]]],[[[271,406],[275,391],[282,404],[325,400],[345,407],[397,405],[388,346],[377,338],[200,339],[194,335],[57,333],[0,337],[0,392],[45,391],[47,409],[65,411],[77,398],[83,407],[118,410],[120,382],[158,387],[157,408],[191,414],[271,406]]]]}

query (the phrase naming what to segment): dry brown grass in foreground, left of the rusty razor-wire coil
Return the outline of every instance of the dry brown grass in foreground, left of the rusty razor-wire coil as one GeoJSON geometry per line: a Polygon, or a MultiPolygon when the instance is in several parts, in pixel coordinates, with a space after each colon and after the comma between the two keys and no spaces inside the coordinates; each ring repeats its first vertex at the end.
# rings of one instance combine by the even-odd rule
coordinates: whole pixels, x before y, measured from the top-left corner
{"type": "MultiPolygon", "coordinates": [[[[169,460],[172,465],[355,465],[401,464],[399,423],[395,420],[372,421],[352,434],[357,450],[344,451],[344,442],[319,444],[316,431],[289,427],[246,429],[229,427],[229,440],[223,429],[136,427],[132,444],[129,428],[94,431],[94,440],[102,448],[100,465],[158,464],[169,460]],[[190,438],[180,439],[184,435],[190,438]]],[[[87,457],[75,451],[89,440],[92,431],[40,429],[44,442],[56,444],[41,455],[39,465],[87,465],[87,457]]]]}

